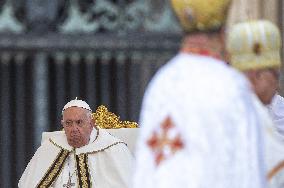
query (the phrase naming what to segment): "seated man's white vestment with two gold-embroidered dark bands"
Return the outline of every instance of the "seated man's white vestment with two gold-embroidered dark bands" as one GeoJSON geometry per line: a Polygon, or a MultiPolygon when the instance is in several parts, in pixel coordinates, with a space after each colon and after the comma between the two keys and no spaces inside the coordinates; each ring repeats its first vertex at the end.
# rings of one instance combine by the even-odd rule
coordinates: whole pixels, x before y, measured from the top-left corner
{"type": "Polygon", "coordinates": [[[64,131],[60,131],[43,141],[18,186],[67,187],[70,177],[74,188],[126,188],[132,174],[132,160],[125,143],[105,130],[98,129],[97,136],[94,129],[89,144],[75,150],[68,144],[64,131]]]}

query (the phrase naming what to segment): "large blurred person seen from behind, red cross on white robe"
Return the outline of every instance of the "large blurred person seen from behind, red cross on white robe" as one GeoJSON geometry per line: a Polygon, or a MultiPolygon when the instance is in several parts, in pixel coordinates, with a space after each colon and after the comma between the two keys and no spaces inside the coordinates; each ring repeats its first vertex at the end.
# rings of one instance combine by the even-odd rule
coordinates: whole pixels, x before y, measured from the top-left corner
{"type": "Polygon", "coordinates": [[[229,1],[172,4],[189,34],[146,90],[133,187],[266,187],[252,90],[220,60],[229,1]]]}

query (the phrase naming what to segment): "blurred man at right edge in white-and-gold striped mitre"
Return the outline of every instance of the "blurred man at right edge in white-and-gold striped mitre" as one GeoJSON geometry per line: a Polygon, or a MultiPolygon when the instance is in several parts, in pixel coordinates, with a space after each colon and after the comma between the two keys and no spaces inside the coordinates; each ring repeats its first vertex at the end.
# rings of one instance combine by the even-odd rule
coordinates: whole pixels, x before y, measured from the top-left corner
{"type": "Polygon", "coordinates": [[[265,161],[270,188],[284,187],[284,142],[264,106],[271,103],[279,87],[280,47],[279,29],[267,20],[241,22],[233,25],[228,32],[230,64],[245,74],[256,94],[255,104],[264,128],[265,161]]]}

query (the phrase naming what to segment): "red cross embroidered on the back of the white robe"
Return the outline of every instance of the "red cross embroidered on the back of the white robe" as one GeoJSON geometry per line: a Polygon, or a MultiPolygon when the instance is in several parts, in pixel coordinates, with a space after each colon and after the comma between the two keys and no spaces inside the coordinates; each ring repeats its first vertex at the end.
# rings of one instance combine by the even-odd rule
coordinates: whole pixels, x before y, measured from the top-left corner
{"type": "Polygon", "coordinates": [[[147,140],[147,145],[155,155],[157,166],[184,147],[179,133],[176,133],[174,137],[170,138],[169,131],[174,129],[176,130],[176,127],[168,116],[160,125],[159,130],[154,131],[147,140]]]}

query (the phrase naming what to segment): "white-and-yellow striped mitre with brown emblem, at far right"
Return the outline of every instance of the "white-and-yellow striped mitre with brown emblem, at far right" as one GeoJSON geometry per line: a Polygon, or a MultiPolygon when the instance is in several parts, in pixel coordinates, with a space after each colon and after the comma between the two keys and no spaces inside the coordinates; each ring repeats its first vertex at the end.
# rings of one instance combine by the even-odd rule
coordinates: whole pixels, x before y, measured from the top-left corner
{"type": "Polygon", "coordinates": [[[226,43],[230,64],[239,70],[280,67],[280,32],[270,21],[235,24],[226,43]]]}

